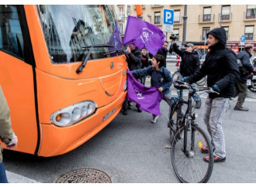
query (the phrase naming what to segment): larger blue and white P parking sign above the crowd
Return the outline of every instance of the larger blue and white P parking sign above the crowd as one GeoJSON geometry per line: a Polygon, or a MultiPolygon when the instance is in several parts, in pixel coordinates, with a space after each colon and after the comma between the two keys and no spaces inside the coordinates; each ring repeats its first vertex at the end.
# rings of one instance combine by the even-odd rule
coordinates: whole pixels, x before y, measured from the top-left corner
{"type": "Polygon", "coordinates": [[[174,10],[163,9],[163,32],[173,32],[174,10]]]}

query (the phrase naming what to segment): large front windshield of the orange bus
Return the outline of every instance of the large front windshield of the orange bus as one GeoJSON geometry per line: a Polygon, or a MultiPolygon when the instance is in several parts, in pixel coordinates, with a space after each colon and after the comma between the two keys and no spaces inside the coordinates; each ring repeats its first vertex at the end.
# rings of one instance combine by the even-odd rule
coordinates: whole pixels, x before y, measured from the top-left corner
{"type": "Polygon", "coordinates": [[[74,63],[85,59],[115,56],[122,51],[122,40],[113,5],[38,5],[44,39],[52,63],[74,63]]]}

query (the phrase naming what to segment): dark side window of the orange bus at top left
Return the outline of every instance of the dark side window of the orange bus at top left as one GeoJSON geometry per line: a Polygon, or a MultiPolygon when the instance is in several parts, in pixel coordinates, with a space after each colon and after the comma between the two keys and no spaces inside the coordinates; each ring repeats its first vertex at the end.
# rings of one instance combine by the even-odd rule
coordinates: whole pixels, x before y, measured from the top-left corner
{"type": "Polygon", "coordinates": [[[0,26],[1,49],[23,59],[23,36],[16,5],[0,5],[0,26]]]}

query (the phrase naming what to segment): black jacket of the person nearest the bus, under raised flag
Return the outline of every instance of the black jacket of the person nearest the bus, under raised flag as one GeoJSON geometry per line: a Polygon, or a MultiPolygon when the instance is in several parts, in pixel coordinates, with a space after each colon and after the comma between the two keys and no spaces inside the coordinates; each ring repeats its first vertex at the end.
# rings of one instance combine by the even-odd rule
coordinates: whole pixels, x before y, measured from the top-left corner
{"type": "Polygon", "coordinates": [[[140,49],[133,49],[129,54],[125,51],[129,70],[139,70],[141,68],[142,53],[140,49]]]}

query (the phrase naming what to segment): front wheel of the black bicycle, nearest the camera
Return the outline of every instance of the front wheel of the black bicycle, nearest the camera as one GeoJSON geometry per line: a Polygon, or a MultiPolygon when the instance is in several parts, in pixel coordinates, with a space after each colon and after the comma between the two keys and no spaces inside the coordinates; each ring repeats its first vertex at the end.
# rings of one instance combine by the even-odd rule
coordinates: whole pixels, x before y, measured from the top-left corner
{"type": "Polygon", "coordinates": [[[184,127],[171,142],[171,164],[181,182],[207,182],[213,172],[213,149],[206,133],[198,125],[187,131],[187,148],[184,151],[184,127]],[[201,148],[208,146],[209,153],[203,154],[201,148]],[[186,152],[186,154],[185,154],[186,152]],[[209,156],[209,163],[202,159],[209,156]]]}

